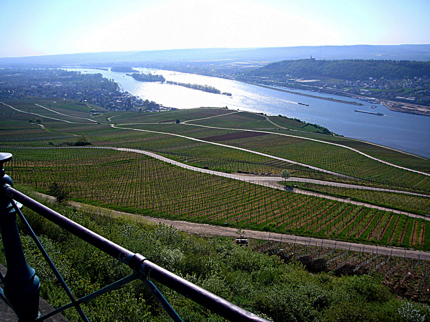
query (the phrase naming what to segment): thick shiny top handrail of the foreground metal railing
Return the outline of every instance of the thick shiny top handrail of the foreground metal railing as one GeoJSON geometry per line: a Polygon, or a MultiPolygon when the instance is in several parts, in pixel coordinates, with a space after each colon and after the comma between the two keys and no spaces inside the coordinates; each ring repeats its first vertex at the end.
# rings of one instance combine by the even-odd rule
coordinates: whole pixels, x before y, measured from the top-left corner
{"type": "MultiPolygon", "coordinates": [[[[1,156],[1,155],[0,155],[1,156]]],[[[6,160],[6,157],[3,157],[6,160]]],[[[1,160],[0,160],[1,161],[1,160]]],[[[8,179],[9,180],[9,179],[8,179]]],[[[9,182],[12,183],[12,180],[9,182]]],[[[108,255],[117,258],[120,262],[128,265],[133,270],[140,273],[142,276],[150,277],[155,281],[167,286],[175,292],[184,295],[186,298],[200,304],[203,307],[211,310],[212,312],[224,317],[229,321],[238,322],[268,322],[266,319],[261,318],[247,310],[238,307],[230,303],[229,301],[220,298],[219,296],[212,294],[206,289],[187,281],[179,277],[178,275],[169,272],[163,267],[152,263],[147,260],[144,256],[130,252],[111,240],[90,231],[71,219],[62,216],[61,214],[55,212],[54,210],[40,204],[36,200],[31,199],[27,195],[12,188],[9,183],[3,184],[0,188],[0,198],[2,195],[6,195],[18,202],[24,204],[29,209],[48,219],[49,221],[55,223],[56,225],[64,228],[71,234],[79,237],[80,239],[86,241],[87,243],[100,249],[108,255]]],[[[1,200],[1,199],[0,199],[1,200]]],[[[143,277],[139,277],[142,279],[143,277]]],[[[148,281],[149,282],[149,281],[148,281]]]]}

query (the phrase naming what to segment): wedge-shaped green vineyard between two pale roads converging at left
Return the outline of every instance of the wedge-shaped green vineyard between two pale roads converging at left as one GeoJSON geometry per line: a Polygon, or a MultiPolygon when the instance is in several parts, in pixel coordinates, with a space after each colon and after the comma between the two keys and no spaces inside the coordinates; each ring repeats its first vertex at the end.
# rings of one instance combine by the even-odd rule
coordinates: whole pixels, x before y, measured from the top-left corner
{"type": "MultiPolygon", "coordinates": [[[[232,117],[236,115],[231,115],[232,117]]],[[[226,115],[223,117],[227,117],[226,115]]],[[[212,118],[210,120],[213,120],[212,118]]],[[[219,118],[216,118],[217,120],[219,118]]],[[[159,131],[163,133],[181,134],[189,137],[203,139],[204,131],[216,135],[217,141],[225,145],[237,146],[244,149],[254,150],[280,158],[287,158],[296,162],[308,164],[314,167],[334,171],[347,176],[372,182],[378,185],[390,187],[408,188],[418,191],[429,191],[430,176],[402,170],[387,164],[372,160],[352,150],[340,146],[305,140],[297,137],[286,137],[269,134],[258,137],[223,140],[221,137],[231,136],[228,130],[216,130],[207,128],[183,128],[177,125],[121,125],[126,128],[136,128],[148,131],[159,131]]],[[[240,136],[240,131],[235,131],[240,136]]],[[[252,132],[251,132],[252,133],[252,132]]],[[[217,146],[218,149],[218,146],[217,146]]]]}

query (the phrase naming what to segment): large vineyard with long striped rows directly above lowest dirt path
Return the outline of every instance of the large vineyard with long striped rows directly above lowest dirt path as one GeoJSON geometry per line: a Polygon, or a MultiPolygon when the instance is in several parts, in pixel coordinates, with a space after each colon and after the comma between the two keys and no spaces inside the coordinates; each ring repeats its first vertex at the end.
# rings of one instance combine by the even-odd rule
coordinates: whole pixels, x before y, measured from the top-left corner
{"type": "MultiPolygon", "coordinates": [[[[2,149],[4,151],[4,149],[2,149]]],[[[74,200],[215,225],[430,249],[430,222],[198,173],[134,152],[8,149],[16,183],[46,192],[58,182],[74,200]]]]}

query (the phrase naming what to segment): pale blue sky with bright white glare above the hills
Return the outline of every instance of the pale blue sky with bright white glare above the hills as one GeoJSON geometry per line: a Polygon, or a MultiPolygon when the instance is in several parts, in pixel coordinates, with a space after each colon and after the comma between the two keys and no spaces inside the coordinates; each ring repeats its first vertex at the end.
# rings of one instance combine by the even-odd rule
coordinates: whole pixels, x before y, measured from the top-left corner
{"type": "Polygon", "coordinates": [[[0,58],[430,43],[430,0],[0,0],[0,58]]]}

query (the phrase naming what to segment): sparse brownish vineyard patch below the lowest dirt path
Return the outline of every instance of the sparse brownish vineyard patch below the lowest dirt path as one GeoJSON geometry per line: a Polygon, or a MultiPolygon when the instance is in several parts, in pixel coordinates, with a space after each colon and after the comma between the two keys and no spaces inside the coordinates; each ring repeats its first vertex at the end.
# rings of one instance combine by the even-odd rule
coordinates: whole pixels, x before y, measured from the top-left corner
{"type": "MultiPolygon", "coordinates": [[[[324,247],[321,243],[300,245],[270,240],[257,242],[254,252],[275,255],[289,263],[299,261],[310,273],[331,273],[334,276],[371,276],[382,279],[393,294],[415,301],[430,301],[430,264],[420,259],[399,258],[324,247]]],[[[364,249],[363,249],[364,250],[364,249]]]]}

